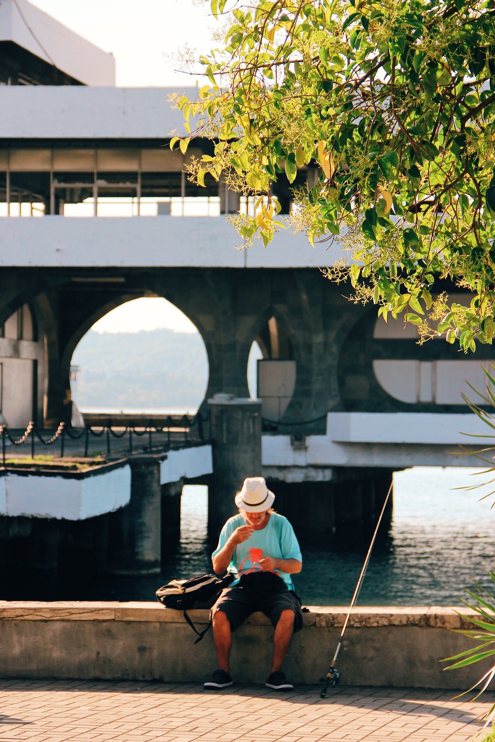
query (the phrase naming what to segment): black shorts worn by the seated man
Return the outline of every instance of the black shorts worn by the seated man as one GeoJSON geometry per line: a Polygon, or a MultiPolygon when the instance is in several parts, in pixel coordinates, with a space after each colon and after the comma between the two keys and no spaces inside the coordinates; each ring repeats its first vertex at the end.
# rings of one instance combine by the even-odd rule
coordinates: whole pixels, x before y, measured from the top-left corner
{"type": "Polygon", "coordinates": [[[298,595],[287,588],[278,574],[252,572],[243,574],[237,585],[223,589],[210,615],[222,611],[235,631],[255,611],[264,613],[275,627],[286,610],[294,611],[294,633],[301,631],[303,614],[298,595]]]}

